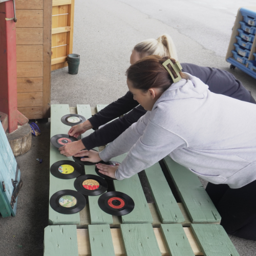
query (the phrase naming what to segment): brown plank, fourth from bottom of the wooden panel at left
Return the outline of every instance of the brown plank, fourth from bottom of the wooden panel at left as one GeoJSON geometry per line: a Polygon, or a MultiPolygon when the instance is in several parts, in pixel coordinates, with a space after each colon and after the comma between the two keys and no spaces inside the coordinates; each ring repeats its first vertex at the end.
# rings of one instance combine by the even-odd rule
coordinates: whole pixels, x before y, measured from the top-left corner
{"type": "Polygon", "coordinates": [[[17,62],[17,77],[42,77],[43,62],[17,62]]]}

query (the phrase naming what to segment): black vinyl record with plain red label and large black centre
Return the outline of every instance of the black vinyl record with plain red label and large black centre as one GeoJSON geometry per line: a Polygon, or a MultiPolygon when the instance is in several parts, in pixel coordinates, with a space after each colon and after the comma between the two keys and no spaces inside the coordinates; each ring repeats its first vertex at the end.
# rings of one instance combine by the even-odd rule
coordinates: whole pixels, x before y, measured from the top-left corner
{"type": "Polygon", "coordinates": [[[98,200],[98,205],[101,210],[114,216],[130,214],[134,209],[133,199],[118,191],[110,191],[101,195],[98,200]]]}

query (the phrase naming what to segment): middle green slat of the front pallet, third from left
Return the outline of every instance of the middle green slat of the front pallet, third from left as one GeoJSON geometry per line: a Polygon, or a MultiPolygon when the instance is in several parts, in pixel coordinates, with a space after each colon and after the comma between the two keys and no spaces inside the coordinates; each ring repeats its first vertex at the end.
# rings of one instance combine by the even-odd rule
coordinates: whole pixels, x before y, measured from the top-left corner
{"type": "Polygon", "coordinates": [[[151,224],[121,224],[126,256],[161,256],[151,224]]]}

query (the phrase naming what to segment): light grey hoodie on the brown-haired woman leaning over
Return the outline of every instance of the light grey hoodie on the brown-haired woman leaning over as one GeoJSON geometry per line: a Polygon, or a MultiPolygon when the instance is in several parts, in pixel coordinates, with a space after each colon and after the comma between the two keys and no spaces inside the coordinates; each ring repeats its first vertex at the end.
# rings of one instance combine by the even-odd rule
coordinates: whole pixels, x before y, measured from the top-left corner
{"type": "Polygon", "coordinates": [[[199,78],[173,83],[137,123],[99,156],[129,152],[116,170],[129,178],[169,155],[214,184],[256,180],[256,105],[215,94],[199,78]]]}

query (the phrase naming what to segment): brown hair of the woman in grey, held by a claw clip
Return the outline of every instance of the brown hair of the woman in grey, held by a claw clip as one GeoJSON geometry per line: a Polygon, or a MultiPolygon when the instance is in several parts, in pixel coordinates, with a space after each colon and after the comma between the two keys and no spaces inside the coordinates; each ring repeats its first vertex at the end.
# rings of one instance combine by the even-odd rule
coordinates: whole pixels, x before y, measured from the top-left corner
{"type": "MultiPolygon", "coordinates": [[[[127,69],[127,79],[133,83],[135,89],[147,91],[150,88],[159,88],[164,92],[174,82],[168,71],[162,65],[167,59],[170,59],[174,64],[176,62],[175,59],[169,57],[160,57],[158,55],[146,56],[127,69]]],[[[177,78],[178,76],[173,68],[169,64],[167,67],[172,72],[174,78],[177,78]]],[[[186,74],[179,73],[181,78],[189,79],[186,74]]]]}

